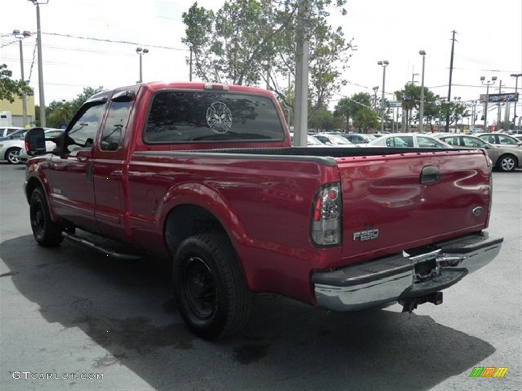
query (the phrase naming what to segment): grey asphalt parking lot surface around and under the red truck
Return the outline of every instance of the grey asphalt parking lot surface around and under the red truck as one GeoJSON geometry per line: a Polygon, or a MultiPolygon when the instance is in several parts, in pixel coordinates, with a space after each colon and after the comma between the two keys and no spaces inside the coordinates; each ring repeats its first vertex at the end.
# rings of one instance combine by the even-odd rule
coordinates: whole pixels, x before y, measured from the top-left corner
{"type": "Polygon", "coordinates": [[[501,253],[442,306],[334,313],[258,297],[242,334],[216,343],[185,328],[165,262],[38,247],[24,175],[0,163],[4,391],[522,389],[522,170],[494,173],[489,231],[504,236],[501,253]],[[508,370],[470,378],[476,366],[508,370]]]}

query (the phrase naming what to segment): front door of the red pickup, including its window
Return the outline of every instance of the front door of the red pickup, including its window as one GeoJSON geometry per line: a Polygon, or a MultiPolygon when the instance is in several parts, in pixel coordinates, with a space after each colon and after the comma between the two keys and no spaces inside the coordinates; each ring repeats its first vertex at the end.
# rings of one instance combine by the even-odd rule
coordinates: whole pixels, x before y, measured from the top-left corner
{"type": "MultiPolygon", "coordinates": [[[[94,218],[93,143],[106,97],[81,107],[60,140],[60,156],[50,163],[52,202],[59,215],[80,228],[97,232],[94,218]]],[[[58,141],[57,141],[58,142],[58,141]]]]}

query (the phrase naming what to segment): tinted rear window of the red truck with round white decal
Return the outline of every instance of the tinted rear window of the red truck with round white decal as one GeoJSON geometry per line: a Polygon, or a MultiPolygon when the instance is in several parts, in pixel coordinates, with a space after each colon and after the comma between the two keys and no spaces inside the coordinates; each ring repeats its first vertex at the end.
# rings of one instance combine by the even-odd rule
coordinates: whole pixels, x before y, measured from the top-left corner
{"type": "Polygon", "coordinates": [[[231,92],[158,92],[150,107],[146,143],[281,141],[284,127],[266,96],[231,92]]]}

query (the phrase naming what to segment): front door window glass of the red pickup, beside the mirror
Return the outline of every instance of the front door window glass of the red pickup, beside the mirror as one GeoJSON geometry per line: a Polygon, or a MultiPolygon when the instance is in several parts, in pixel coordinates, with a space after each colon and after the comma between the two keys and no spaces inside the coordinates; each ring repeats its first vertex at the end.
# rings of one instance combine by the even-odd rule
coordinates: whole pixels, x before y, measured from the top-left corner
{"type": "Polygon", "coordinates": [[[105,105],[101,102],[95,106],[90,106],[73,124],[66,137],[68,152],[73,152],[78,148],[92,147],[104,107],[105,105]]]}

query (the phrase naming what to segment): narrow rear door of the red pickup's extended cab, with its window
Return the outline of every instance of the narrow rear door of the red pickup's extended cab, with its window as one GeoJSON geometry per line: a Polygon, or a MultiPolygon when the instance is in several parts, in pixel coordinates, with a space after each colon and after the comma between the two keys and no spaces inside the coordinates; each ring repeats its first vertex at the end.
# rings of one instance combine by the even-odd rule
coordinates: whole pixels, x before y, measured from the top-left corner
{"type": "Polygon", "coordinates": [[[125,239],[124,164],[128,139],[127,125],[133,107],[133,90],[117,91],[108,103],[108,113],[96,141],[93,180],[96,220],[101,232],[114,239],[125,239]]]}

